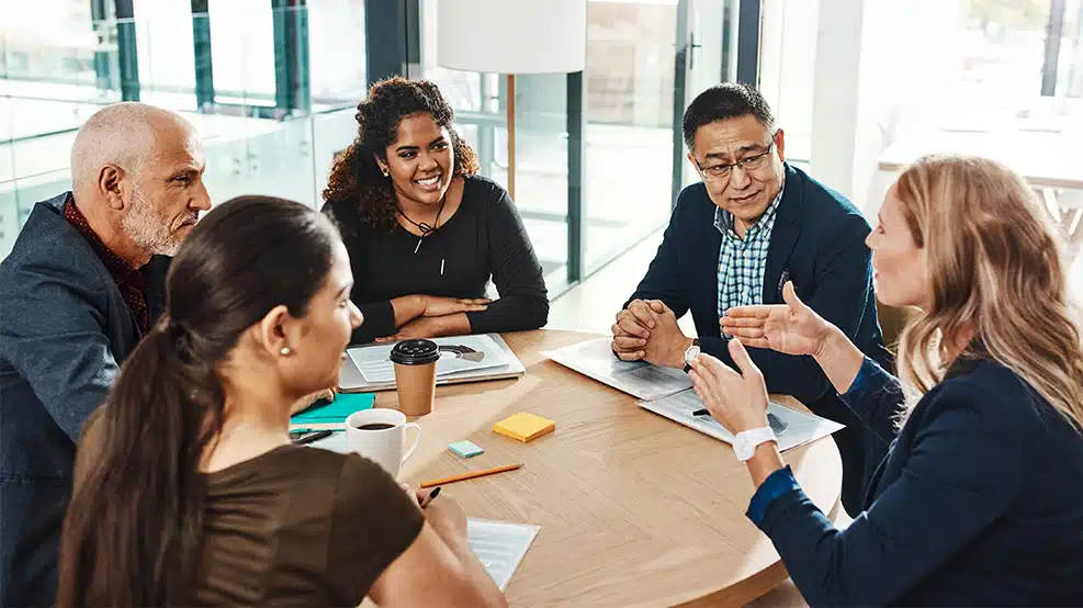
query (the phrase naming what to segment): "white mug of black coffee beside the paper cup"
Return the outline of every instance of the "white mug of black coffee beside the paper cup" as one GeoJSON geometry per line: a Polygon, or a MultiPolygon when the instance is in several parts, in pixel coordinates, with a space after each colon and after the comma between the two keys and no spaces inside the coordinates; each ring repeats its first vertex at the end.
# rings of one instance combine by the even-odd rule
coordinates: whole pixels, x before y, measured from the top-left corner
{"type": "Polygon", "coordinates": [[[351,452],[384,468],[392,477],[398,478],[398,471],[414,455],[414,450],[421,442],[421,428],[414,423],[407,423],[406,416],[397,409],[374,407],[350,414],[346,419],[346,444],[351,452]],[[362,428],[384,427],[384,428],[362,428]],[[417,432],[414,443],[404,453],[406,429],[417,432]]]}

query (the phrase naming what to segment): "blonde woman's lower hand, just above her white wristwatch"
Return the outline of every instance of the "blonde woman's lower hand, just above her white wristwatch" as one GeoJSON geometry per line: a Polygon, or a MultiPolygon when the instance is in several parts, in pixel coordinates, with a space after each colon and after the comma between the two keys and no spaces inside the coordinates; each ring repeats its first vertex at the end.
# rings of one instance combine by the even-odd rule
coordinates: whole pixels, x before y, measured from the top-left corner
{"type": "Polygon", "coordinates": [[[696,395],[711,416],[734,435],[768,426],[764,374],[740,340],[730,340],[730,356],[740,374],[710,354],[700,354],[692,361],[688,376],[696,395]]]}

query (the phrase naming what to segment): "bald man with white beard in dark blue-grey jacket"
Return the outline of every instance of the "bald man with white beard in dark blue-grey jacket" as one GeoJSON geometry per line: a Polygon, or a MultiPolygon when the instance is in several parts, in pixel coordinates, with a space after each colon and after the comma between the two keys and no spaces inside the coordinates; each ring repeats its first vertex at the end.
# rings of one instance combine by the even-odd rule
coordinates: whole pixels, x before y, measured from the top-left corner
{"type": "Polygon", "coordinates": [[[165,308],[169,256],[211,209],[203,169],[184,119],[104,108],[76,135],[72,191],[0,263],[0,606],[53,603],[76,441],[165,308]]]}

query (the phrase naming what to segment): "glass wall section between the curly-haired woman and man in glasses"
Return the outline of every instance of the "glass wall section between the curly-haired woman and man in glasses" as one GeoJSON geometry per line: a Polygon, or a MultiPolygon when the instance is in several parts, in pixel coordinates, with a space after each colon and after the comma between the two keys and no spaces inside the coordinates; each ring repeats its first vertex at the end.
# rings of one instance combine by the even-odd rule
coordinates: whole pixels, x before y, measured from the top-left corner
{"type": "MultiPolygon", "coordinates": [[[[440,67],[438,2],[417,4],[420,47],[410,63],[449,94],[483,173],[506,183],[505,77],[440,67]]],[[[695,181],[680,116],[700,91],[733,79],[738,4],[590,0],[586,71],[516,76],[516,204],[551,291],[664,226],[676,193],[695,181]]],[[[415,37],[409,27],[404,35],[415,37]]]]}

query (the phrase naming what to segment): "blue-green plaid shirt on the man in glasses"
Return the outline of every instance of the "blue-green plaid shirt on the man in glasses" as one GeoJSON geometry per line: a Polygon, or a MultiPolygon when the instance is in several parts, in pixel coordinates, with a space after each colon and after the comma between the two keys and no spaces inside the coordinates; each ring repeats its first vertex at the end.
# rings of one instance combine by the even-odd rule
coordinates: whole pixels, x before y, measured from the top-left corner
{"type": "Polygon", "coordinates": [[[767,250],[775,228],[775,212],[786,183],[767,206],[764,215],[745,230],[741,238],[733,229],[733,215],[719,207],[714,211],[714,227],[722,233],[719,249],[719,318],[734,306],[749,306],[764,302],[764,271],[767,269],[767,250]]]}

